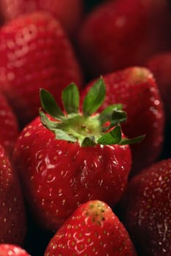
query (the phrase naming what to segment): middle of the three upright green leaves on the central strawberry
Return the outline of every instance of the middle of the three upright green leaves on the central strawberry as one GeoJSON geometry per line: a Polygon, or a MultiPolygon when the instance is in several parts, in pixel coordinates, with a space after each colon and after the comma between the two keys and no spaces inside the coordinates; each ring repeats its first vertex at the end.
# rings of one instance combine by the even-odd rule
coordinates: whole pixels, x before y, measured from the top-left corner
{"type": "Polygon", "coordinates": [[[78,113],[80,95],[75,83],[71,83],[62,92],[62,101],[66,113],[78,113]]]}

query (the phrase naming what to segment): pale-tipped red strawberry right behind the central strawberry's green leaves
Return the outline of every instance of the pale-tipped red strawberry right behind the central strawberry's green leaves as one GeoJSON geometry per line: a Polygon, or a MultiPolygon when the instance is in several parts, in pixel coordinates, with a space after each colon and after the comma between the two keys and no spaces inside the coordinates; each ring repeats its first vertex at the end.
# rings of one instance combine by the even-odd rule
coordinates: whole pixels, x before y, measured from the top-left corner
{"type": "MultiPolygon", "coordinates": [[[[104,75],[106,98],[101,109],[121,103],[127,113],[123,132],[129,138],[145,134],[132,147],[132,174],[147,167],[160,155],[164,140],[164,110],[153,74],[142,67],[129,67],[104,75]]],[[[82,97],[92,86],[87,84],[82,97]]]]}

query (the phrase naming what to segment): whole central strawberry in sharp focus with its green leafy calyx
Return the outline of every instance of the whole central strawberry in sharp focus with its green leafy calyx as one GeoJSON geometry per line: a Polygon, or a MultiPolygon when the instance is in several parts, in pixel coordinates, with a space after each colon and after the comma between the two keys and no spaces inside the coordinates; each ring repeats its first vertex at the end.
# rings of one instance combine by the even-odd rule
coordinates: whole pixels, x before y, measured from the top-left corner
{"type": "Polygon", "coordinates": [[[121,105],[95,114],[105,96],[102,78],[88,91],[83,113],[73,83],[62,93],[66,115],[49,92],[42,89],[40,96],[45,112],[40,111],[40,118],[20,133],[13,162],[35,219],[42,227],[56,230],[87,200],[98,198],[110,206],[118,202],[132,162],[126,144],[139,138],[123,138],[119,122],[126,114],[121,105]]]}

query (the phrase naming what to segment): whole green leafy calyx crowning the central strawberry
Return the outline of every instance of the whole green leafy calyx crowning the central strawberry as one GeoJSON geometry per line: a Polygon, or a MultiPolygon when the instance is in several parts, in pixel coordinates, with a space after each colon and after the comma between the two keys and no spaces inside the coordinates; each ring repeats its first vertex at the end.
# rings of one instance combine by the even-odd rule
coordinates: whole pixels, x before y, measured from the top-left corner
{"type": "Polygon", "coordinates": [[[86,94],[83,111],[80,112],[80,94],[75,83],[71,83],[62,92],[65,110],[63,112],[52,94],[40,89],[40,100],[44,110],[39,110],[42,124],[56,135],[57,140],[78,142],[80,146],[140,142],[144,135],[133,139],[122,138],[121,123],[126,121],[126,113],[122,110],[121,104],[110,105],[101,113],[96,113],[104,98],[104,80],[99,78],[86,94]]]}

